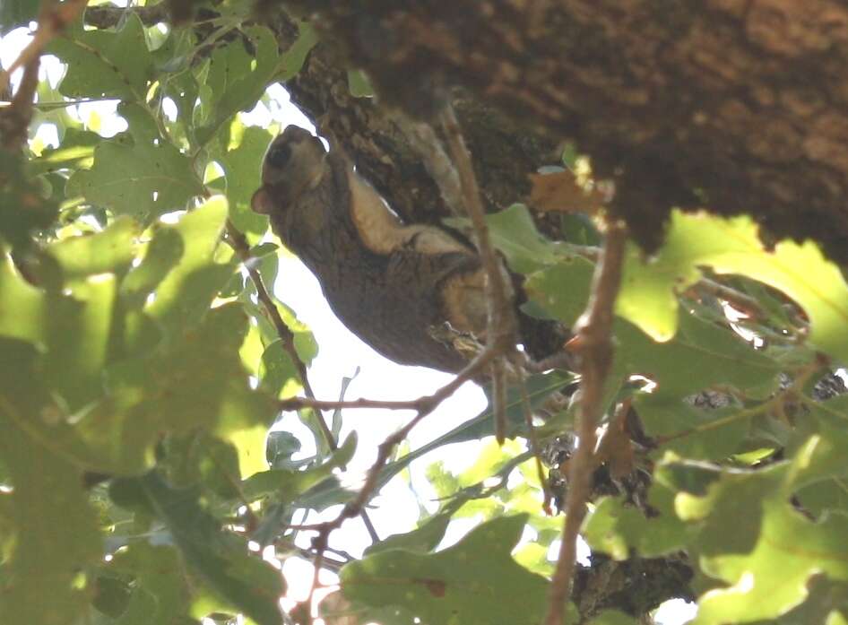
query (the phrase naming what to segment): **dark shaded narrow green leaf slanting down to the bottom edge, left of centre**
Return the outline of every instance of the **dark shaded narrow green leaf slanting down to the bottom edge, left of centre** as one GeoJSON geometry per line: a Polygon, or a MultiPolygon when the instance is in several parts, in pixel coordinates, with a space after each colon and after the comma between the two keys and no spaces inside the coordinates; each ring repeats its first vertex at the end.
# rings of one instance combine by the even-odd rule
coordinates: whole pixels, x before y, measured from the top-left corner
{"type": "Polygon", "coordinates": [[[247,541],[223,532],[195,490],[176,490],[157,473],[138,481],[186,562],[216,595],[259,625],[280,625],[280,573],[247,551],[247,541]]]}

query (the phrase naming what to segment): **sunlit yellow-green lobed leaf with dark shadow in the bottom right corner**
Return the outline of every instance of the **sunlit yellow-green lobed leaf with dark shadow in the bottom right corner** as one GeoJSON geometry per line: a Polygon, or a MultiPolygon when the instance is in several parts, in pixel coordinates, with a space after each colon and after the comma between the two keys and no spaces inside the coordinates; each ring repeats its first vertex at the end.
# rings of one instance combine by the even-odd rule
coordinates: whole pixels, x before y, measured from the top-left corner
{"type": "Polygon", "coordinates": [[[774,619],[805,601],[814,575],[848,580],[848,516],[832,511],[811,521],[790,502],[800,485],[837,466],[844,472],[842,449],[813,435],[791,462],[756,471],[674,460],[658,467],[657,481],[684,489],[675,508],[681,519],[697,524],[693,546],[701,569],[727,584],[702,595],[693,623],[774,619]]]}

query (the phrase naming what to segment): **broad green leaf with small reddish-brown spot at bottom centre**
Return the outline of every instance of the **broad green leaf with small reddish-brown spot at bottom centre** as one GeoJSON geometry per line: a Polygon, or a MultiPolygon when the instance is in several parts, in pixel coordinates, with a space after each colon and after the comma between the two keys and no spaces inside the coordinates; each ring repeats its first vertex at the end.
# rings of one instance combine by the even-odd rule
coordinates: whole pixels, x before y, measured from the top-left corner
{"type": "Polygon", "coordinates": [[[519,515],[489,521],[431,555],[394,549],[351,562],[342,569],[342,592],[353,603],[397,606],[423,622],[537,625],[548,581],[510,556],[526,520],[519,515]],[[506,596],[521,601],[503,601],[506,596]]]}

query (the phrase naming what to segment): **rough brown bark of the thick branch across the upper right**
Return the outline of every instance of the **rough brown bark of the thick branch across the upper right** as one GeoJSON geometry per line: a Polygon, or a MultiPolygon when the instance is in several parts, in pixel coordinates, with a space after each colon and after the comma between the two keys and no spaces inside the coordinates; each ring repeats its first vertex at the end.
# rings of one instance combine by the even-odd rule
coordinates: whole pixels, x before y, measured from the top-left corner
{"type": "MultiPolygon", "coordinates": [[[[575,140],[595,172],[615,181],[615,209],[646,247],[661,240],[672,206],[705,207],[750,213],[767,236],[815,239],[848,262],[844,0],[286,4],[312,15],[336,58],[368,71],[384,106],[426,117],[434,94],[462,85],[475,110],[532,125],[537,134],[525,134],[527,141],[575,140]]],[[[307,109],[330,111],[339,102],[307,93],[313,62],[294,91],[307,109]]],[[[352,129],[359,112],[329,123],[353,121],[352,129]]],[[[468,125],[472,138],[480,126],[468,125]]],[[[508,153],[505,143],[520,140],[496,133],[482,141],[508,153]]],[[[396,152],[391,167],[400,178],[420,178],[416,159],[397,146],[353,147],[372,159],[396,152]]],[[[472,147],[486,158],[487,150],[472,147]]],[[[549,159],[539,147],[515,152],[520,163],[512,169],[549,159]]],[[[384,166],[364,161],[375,172],[384,166]]],[[[489,199],[502,205],[486,164],[478,166],[489,199]]],[[[399,195],[411,211],[434,190],[399,195]]]]}

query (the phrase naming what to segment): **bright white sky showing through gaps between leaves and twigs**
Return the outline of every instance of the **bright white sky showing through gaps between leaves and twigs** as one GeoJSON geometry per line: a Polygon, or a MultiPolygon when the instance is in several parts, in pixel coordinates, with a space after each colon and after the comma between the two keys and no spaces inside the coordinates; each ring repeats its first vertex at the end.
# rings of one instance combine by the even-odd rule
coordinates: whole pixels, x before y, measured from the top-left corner
{"type": "MultiPolygon", "coordinates": [[[[30,40],[27,29],[13,30],[0,39],[0,64],[7,67],[17,57],[18,53],[30,40]]],[[[41,78],[49,77],[51,83],[63,74],[63,67],[54,57],[47,57],[41,67],[41,78]]],[[[20,74],[13,76],[13,84],[19,80],[20,74]]],[[[273,85],[269,90],[272,97],[271,110],[258,105],[250,113],[243,115],[242,120],[251,126],[271,126],[274,122],[285,127],[289,124],[306,127],[315,132],[314,126],[289,101],[288,93],[280,86],[273,85]]],[[[98,132],[100,135],[112,136],[125,130],[125,122],[116,113],[117,100],[82,104],[68,109],[74,117],[79,117],[88,124],[99,118],[98,132]],[[94,116],[94,117],[92,117],[94,116]]],[[[56,145],[56,129],[52,125],[39,127],[36,134],[39,142],[56,145]]],[[[299,318],[305,322],[316,336],[319,352],[309,370],[309,379],[321,399],[333,400],[338,397],[342,378],[350,377],[359,367],[359,375],[351,383],[346,398],[355,399],[367,397],[381,400],[414,399],[427,395],[443,386],[451,379],[445,373],[419,367],[404,367],[386,360],[359,338],[347,330],[333,316],[321,293],[316,278],[296,258],[281,257],[279,277],[274,285],[274,292],[281,301],[293,308],[299,318]]],[[[437,436],[452,430],[456,425],[472,418],[486,406],[485,396],[480,388],[471,382],[463,385],[452,397],[441,404],[435,412],[412,430],[409,438],[411,449],[420,447],[437,436]]],[[[345,473],[345,479],[350,476],[361,476],[376,458],[376,447],[392,431],[399,428],[411,418],[411,412],[397,411],[345,411],[343,419],[342,439],[355,429],[359,436],[357,454],[345,473]]],[[[310,456],[314,447],[310,448],[311,434],[303,426],[296,415],[286,415],[278,426],[282,430],[292,431],[304,448],[299,456],[310,456]]],[[[437,508],[435,491],[424,478],[424,469],[437,460],[443,461],[451,471],[458,472],[471,465],[476,459],[475,450],[480,443],[470,442],[439,448],[420,461],[411,465],[412,490],[400,478],[390,482],[376,498],[376,508],[368,510],[377,533],[381,537],[389,534],[406,532],[415,527],[419,517],[420,502],[430,512],[437,508]]],[[[296,456],[296,457],[299,457],[296,456]]],[[[358,488],[359,482],[346,483],[350,488],[358,488]]],[[[334,518],[339,508],[330,508],[322,515],[313,513],[304,522],[313,523],[334,518]]],[[[460,519],[454,521],[448,530],[444,545],[455,543],[477,521],[460,519]]],[[[309,536],[303,535],[301,546],[307,547],[309,536]]],[[[359,556],[361,551],[370,543],[368,533],[360,519],[351,519],[343,527],[334,532],[330,538],[331,547],[336,547],[359,556]]],[[[555,545],[556,546],[556,545],[555,545]]],[[[584,557],[587,555],[584,546],[584,557]]],[[[307,596],[311,584],[311,565],[306,560],[290,558],[283,564],[283,573],[289,585],[289,598],[286,607],[294,600],[307,596]]],[[[335,579],[331,575],[322,577],[322,581],[332,584],[335,579]]],[[[682,601],[669,602],[661,608],[657,621],[662,625],[677,625],[687,621],[694,614],[694,606],[688,606],[682,601]]]]}

